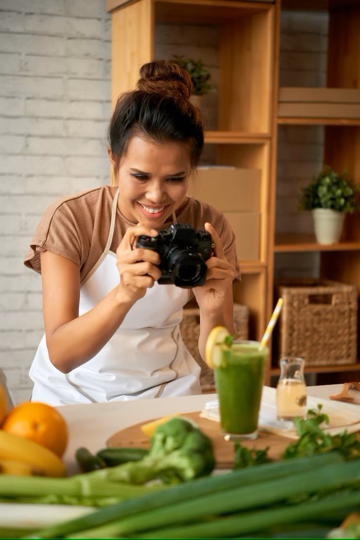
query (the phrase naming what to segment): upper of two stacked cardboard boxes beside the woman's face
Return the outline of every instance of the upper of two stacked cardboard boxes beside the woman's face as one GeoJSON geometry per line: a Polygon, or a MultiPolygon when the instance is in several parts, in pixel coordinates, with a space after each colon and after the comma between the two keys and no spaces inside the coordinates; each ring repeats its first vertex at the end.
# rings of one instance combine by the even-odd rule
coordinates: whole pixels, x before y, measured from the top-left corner
{"type": "Polygon", "coordinates": [[[220,212],[259,212],[261,171],[250,168],[200,168],[188,195],[220,212]]]}

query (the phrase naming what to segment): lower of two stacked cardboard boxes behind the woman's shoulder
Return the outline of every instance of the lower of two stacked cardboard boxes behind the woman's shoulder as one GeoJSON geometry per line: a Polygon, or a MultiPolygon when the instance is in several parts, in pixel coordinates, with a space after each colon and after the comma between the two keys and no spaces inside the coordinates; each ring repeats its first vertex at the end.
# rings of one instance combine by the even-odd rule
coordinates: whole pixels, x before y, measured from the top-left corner
{"type": "MultiPolygon", "coordinates": [[[[260,213],[224,212],[235,234],[236,254],[239,261],[257,261],[260,258],[260,213]]],[[[241,265],[240,265],[241,270],[241,265]]]]}

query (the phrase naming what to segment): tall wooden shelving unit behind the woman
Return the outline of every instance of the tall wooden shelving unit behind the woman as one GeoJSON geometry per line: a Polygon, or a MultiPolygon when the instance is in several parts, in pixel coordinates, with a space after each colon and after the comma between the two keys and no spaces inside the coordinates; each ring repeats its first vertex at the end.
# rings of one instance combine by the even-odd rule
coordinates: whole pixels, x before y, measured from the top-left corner
{"type": "MultiPolygon", "coordinates": [[[[359,89],[360,0],[107,0],[107,9],[112,18],[113,104],[121,92],[134,88],[139,67],[154,58],[158,23],[219,29],[218,119],[216,129],[205,133],[206,148],[215,156],[215,165],[261,171],[259,260],[241,259],[242,282],[234,287],[235,301],[249,307],[250,337],[261,338],[273,311],[277,253],[319,251],[322,278],[354,283],[360,291],[356,216],[347,218],[344,238],[333,246],[320,246],[313,238],[275,238],[280,125],[325,126],[324,163],[348,170],[360,183],[360,119],[277,115],[281,9],[329,10],[328,86],[359,89]],[[346,62],[339,44],[347,46],[346,62]]],[[[267,382],[276,369],[269,360],[267,382]]],[[[316,369],[338,372],[348,367],[316,369]]]]}

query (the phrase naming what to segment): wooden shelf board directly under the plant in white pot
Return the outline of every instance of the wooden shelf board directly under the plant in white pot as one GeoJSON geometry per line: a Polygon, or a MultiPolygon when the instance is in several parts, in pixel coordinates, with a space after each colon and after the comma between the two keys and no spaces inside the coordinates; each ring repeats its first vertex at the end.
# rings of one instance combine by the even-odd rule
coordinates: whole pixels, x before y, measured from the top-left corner
{"type": "Polygon", "coordinates": [[[317,244],[312,234],[277,234],[274,245],[275,253],[301,251],[360,251],[358,242],[338,242],[337,244],[317,244]]]}

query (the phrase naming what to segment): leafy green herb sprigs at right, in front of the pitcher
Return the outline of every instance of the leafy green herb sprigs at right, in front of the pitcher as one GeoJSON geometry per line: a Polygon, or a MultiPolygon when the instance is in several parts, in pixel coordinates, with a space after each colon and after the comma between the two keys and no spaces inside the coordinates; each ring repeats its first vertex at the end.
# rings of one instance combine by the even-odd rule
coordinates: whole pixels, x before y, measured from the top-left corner
{"type": "Polygon", "coordinates": [[[330,435],[320,426],[329,423],[329,417],[321,413],[322,406],[319,404],[316,410],[308,410],[305,419],[295,418],[294,424],[299,436],[294,443],[288,444],[283,453],[283,459],[293,457],[310,456],[336,450],[346,460],[360,456],[360,441],[356,433],[343,433],[330,435]]]}

